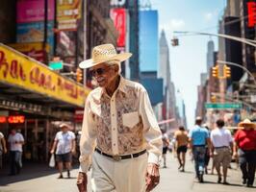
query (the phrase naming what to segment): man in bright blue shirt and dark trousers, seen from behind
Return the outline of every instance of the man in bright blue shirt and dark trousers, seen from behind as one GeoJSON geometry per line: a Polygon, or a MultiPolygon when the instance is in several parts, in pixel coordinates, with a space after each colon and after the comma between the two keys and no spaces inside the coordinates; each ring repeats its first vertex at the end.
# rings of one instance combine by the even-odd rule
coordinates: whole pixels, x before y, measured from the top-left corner
{"type": "Polygon", "coordinates": [[[190,148],[194,160],[195,177],[203,182],[206,144],[210,146],[209,132],[201,127],[202,118],[196,117],[195,126],[189,132],[190,148]]]}

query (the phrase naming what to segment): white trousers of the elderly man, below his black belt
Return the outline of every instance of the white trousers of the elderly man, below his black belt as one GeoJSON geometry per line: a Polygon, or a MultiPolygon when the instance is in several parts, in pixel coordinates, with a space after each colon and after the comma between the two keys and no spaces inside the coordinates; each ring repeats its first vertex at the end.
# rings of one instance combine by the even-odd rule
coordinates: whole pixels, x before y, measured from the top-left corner
{"type": "Polygon", "coordinates": [[[146,153],[115,161],[94,152],[91,188],[93,192],[144,192],[146,167],[146,153]]]}

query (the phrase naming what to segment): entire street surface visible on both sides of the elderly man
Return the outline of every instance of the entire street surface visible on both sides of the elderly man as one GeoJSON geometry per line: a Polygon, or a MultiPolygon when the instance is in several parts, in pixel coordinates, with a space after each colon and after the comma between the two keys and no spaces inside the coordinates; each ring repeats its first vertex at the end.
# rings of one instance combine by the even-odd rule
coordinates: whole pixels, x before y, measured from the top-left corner
{"type": "MultiPolygon", "coordinates": [[[[155,192],[250,192],[254,188],[246,188],[241,185],[240,170],[229,170],[228,181],[230,185],[217,183],[217,175],[205,176],[205,183],[194,181],[192,162],[188,160],[185,173],[178,172],[176,158],[172,154],[167,156],[167,168],[161,168],[161,182],[154,190],[155,192]]],[[[189,156],[188,156],[189,159],[189,156]]],[[[78,169],[71,172],[71,179],[57,180],[58,174],[55,170],[46,166],[31,165],[25,167],[19,176],[7,177],[0,175],[0,192],[70,192],[77,191],[76,175],[78,169]]],[[[66,177],[64,173],[64,177],[66,177]]],[[[254,182],[255,185],[255,182],[254,182]]],[[[89,191],[90,184],[89,184],[89,191]]]]}

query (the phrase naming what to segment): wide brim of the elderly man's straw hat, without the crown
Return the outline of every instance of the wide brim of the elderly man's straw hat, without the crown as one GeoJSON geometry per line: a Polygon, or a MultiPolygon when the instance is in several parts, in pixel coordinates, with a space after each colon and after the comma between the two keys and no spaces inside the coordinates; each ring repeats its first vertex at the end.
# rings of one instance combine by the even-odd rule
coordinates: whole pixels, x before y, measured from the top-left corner
{"type": "Polygon", "coordinates": [[[84,61],[79,63],[79,67],[83,68],[83,69],[86,69],[86,68],[90,68],[90,67],[95,66],[97,64],[100,64],[102,62],[107,62],[107,61],[110,61],[110,60],[124,61],[124,60],[128,60],[129,58],[131,58],[131,56],[132,56],[131,53],[121,53],[121,54],[117,54],[114,57],[107,58],[105,60],[97,60],[97,61],[93,61],[92,59],[84,60],[84,61]]]}

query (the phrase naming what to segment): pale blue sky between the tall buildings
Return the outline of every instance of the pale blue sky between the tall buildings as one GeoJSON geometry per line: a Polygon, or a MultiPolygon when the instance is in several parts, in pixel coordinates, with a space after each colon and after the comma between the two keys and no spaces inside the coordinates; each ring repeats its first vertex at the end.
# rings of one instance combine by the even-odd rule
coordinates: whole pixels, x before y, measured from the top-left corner
{"type": "MultiPolygon", "coordinates": [[[[179,46],[171,46],[173,31],[218,33],[226,0],[151,0],[152,10],[159,13],[159,33],[166,31],[169,46],[171,81],[179,89],[186,105],[190,129],[194,122],[197,85],[200,73],[206,72],[207,42],[210,36],[177,36],[179,46]]],[[[218,49],[218,38],[212,37],[218,49]]]]}

